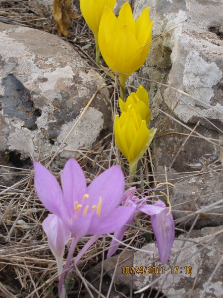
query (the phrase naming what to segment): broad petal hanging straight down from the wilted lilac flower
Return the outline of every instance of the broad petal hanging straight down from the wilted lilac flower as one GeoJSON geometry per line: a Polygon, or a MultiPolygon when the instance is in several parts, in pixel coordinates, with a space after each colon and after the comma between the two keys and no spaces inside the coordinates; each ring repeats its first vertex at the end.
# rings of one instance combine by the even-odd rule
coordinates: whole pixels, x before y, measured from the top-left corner
{"type": "Polygon", "coordinates": [[[151,216],[151,224],[156,236],[160,260],[167,263],[172,243],[174,240],[174,222],[172,214],[168,216],[169,208],[166,207],[158,214],[151,216]]]}

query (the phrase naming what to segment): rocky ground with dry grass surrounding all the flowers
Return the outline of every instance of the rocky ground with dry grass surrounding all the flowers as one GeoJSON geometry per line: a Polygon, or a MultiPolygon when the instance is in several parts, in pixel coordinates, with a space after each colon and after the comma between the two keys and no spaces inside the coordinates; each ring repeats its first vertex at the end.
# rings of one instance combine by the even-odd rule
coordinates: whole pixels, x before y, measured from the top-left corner
{"type": "MultiPolygon", "coordinates": [[[[117,2],[116,11],[123,1],[117,2]]],[[[136,17],[148,5],[129,2],[136,17]]],[[[75,157],[89,182],[114,161],[125,169],[113,142],[117,85],[96,67],[93,35],[82,18],[72,20],[67,38],[57,36],[51,4],[0,1],[3,298],[52,297],[45,283],[57,291],[32,161],[50,163],[59,176],[75,157]]],[[[154,41],[127,89],[147,88],[157,134],[141,160],[141,182],[128,183],[126,169],[125,175],[126,186],[138,192],[174,184],[168,188],[176,231],[171,257],[165,266],[159,262],[151,224],[139,214],[125,235],[135,250],[123,244],[106,259],[111,238],[101,237],[78,263],[81,278],[71,277],[70,298],[223,298],[223,1],[151,0],[150,6],[154,41]]],[[[80,14],[78,1],[72,11],[80,14]]]]}

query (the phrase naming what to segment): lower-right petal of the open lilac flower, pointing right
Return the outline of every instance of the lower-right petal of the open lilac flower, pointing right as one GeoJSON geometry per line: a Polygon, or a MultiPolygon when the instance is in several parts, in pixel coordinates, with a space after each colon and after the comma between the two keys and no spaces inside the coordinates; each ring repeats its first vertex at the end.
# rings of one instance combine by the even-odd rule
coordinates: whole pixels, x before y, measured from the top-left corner
{"type": "Polygon", "coordinates": [[[128,220],[135,214],[134,207],[118,207],[115,208],[103,217],[101,214],[99,217],[94,216],[91,226],[89,227],[89,234],[102,235],[112,233],[119,230],[128,220]]]}

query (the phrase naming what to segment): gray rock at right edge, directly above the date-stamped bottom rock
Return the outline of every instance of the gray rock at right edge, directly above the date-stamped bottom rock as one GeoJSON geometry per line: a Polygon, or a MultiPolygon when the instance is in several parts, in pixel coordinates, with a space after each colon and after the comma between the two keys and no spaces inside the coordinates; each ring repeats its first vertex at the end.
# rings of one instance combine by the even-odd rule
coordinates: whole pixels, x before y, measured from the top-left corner
{"type": "Polygon", "coordinates": [[[192,177],[188,181],[175,183],[171,205],[176,222],[190,227],[199,216],[195,228],[222,225],[221,204],[211,207],[212,204],[223,200],[222,185],[223,175],[218,172],[209,172],[192,177]]]}

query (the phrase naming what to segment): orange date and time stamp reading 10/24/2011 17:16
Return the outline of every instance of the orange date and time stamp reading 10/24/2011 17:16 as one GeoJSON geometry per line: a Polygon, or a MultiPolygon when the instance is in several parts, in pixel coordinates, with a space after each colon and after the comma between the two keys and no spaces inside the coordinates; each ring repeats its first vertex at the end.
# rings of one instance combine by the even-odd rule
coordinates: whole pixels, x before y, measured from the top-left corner
{"type": "MultiPolygon", "coordinates": [[[[122,274],[165,274],[165,267],[156,267],[156,266],[123,266],[121,267],[122,274]]],[[[171,274],[192,274],[193,269],[192,266],[171,266],[168,270],[170,270],[171,274]]]]}

